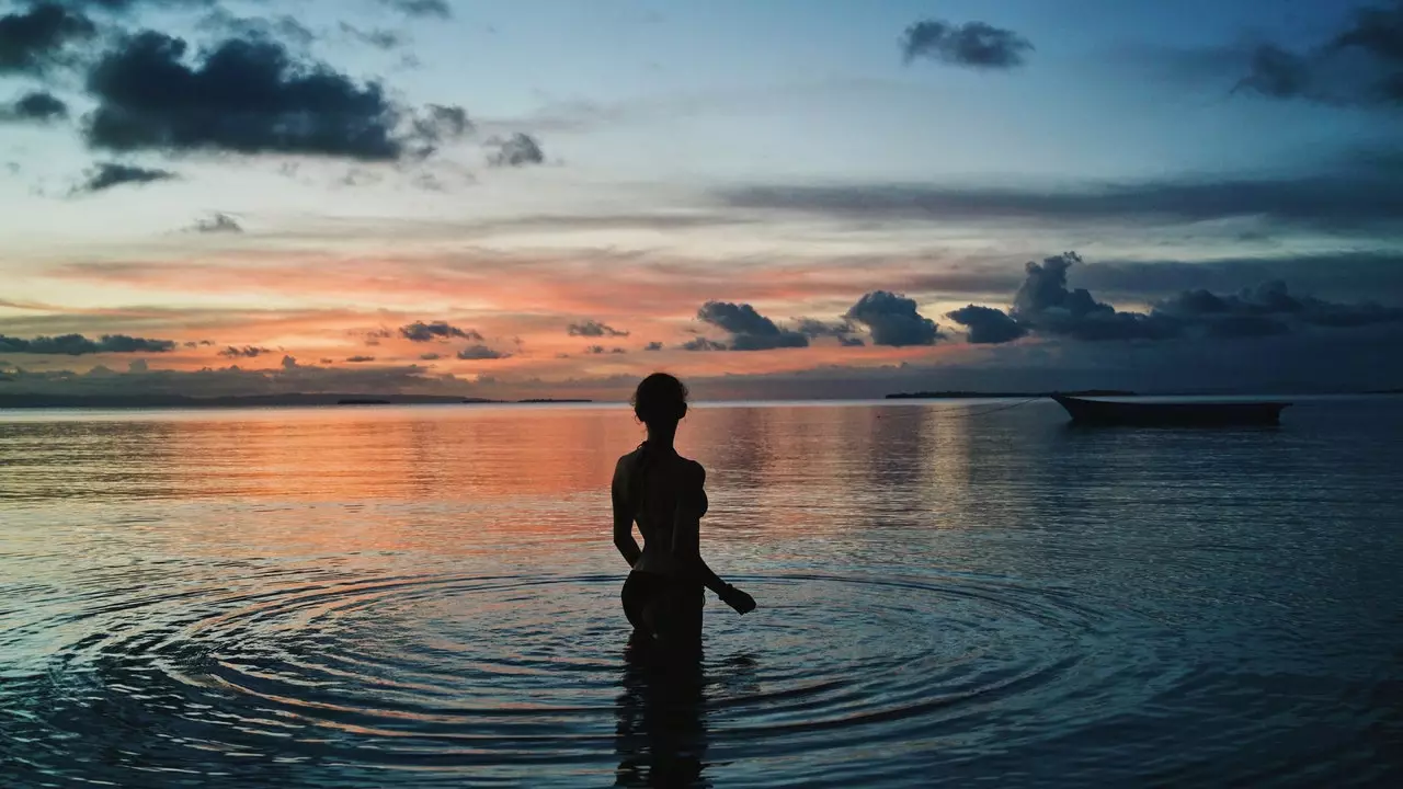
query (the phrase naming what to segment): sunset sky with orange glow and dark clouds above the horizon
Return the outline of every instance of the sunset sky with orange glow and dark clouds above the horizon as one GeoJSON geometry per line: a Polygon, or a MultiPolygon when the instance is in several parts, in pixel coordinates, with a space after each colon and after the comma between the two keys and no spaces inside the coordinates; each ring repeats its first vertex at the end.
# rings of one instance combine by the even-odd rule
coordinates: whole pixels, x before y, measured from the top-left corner
{"type": "Polygon", "coordinates": [[[1399,0],[0,0],[0,394],[1403,386],[1399,0]]]}

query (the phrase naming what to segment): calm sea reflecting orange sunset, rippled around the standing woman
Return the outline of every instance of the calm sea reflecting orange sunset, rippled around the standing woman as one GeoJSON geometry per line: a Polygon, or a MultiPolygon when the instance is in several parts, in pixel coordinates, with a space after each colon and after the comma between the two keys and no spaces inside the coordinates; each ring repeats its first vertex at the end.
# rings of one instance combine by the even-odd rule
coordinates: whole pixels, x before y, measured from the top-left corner
{"type": "Polygon", "coordinates": [[[0,785],[1403,785],[1403,399],[1007,404],[694,409],[676,665],[624,409],[0,413],[0,785]]]}

